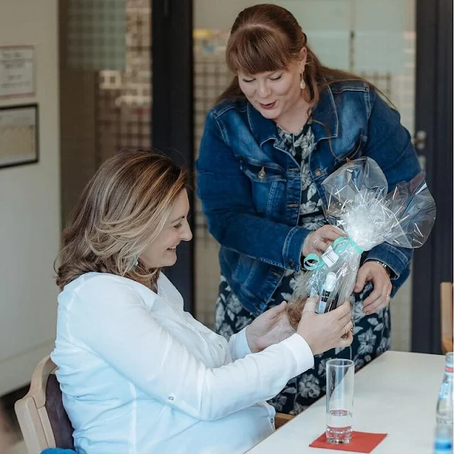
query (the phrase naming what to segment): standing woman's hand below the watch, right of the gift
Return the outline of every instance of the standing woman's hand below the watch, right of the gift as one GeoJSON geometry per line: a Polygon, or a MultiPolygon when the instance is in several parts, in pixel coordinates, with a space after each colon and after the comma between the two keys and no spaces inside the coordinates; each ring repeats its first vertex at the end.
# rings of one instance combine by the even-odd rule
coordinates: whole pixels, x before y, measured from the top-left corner
{"type": "Polygon", "coordinates": [[[365,262],[358,271],[354,292],[361,292],[367,281],[372,282],[374,289],[364,300],[363,311],[366,315],[380,311],[391,300],[392,284],[388,273],[380,263],[370,260],[365,262]]]}

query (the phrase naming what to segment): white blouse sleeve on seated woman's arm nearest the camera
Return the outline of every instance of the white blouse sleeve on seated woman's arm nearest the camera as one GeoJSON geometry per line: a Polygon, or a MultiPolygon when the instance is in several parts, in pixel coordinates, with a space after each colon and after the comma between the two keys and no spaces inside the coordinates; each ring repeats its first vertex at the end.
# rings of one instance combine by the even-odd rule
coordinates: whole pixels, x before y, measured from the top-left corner
{"type": "Polygon", "coordinates": [[[74,330],[88,348],[151,397],[196,419],[218,419],[270,399],[314,365],[309,345],[294,334],[210,369],[160,326],[131,287],[108,277],[87,281],[75,304],[74,330]]]}

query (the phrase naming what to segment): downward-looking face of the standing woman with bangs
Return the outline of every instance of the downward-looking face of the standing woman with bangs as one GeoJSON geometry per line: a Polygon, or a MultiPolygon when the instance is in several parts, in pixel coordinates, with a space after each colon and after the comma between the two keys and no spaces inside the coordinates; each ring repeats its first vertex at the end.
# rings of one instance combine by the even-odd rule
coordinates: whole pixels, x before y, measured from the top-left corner
{"type": "Polygon", "coordinates": [[[240,89],[262,116],[280,124],[304,104],[300,83],[305,63],[304,52],[303,60],[291,62],[284,70],[252,75],[238,72],[240,89]]]}

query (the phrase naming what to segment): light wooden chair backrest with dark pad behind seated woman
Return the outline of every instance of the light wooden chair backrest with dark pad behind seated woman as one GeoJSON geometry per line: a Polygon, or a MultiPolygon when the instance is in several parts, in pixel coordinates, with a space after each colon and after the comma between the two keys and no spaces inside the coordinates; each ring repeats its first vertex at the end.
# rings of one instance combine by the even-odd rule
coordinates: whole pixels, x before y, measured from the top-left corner
{"type": "Polygon", "coordinates": [[[49,356],[36,366],[30,389],[14,408],[29,454],[45,448],[74,449],[70,419],[62,403],[62,392],[54,372],[56,366],[49,356]]]}

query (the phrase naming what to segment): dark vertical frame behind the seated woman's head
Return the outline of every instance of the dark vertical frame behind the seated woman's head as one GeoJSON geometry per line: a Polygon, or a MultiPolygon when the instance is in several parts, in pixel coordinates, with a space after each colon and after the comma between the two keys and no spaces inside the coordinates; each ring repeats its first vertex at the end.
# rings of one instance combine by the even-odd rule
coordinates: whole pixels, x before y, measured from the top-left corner
{"type": "MultiPolygon", "coordinates": [[[[153,148],[178,165],[194,167],[192,0],[152,1],[153,148]]],[[[194,230],[194,194],[188,192],[194,230]]],[[[165,270],[194,310],[194,245],[182,243],[176,265],[165,270]]]]}

